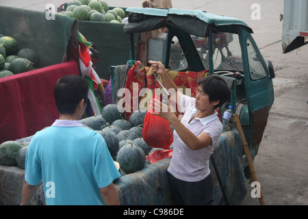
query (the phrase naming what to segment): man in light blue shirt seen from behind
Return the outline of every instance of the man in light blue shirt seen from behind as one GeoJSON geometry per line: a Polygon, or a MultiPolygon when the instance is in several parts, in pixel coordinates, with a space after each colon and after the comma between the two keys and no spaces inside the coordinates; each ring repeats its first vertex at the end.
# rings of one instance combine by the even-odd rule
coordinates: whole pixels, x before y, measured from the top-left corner
{"type": "Polygon", "coordinates": [[[86,109],[88,82],[66,75],[55,85],[60,118],[38,131],[27,149],[22,205],[42,180],[47,205],[119,205],[112,181],[120,177],[103,137],[78,121],[86,109]]]}

